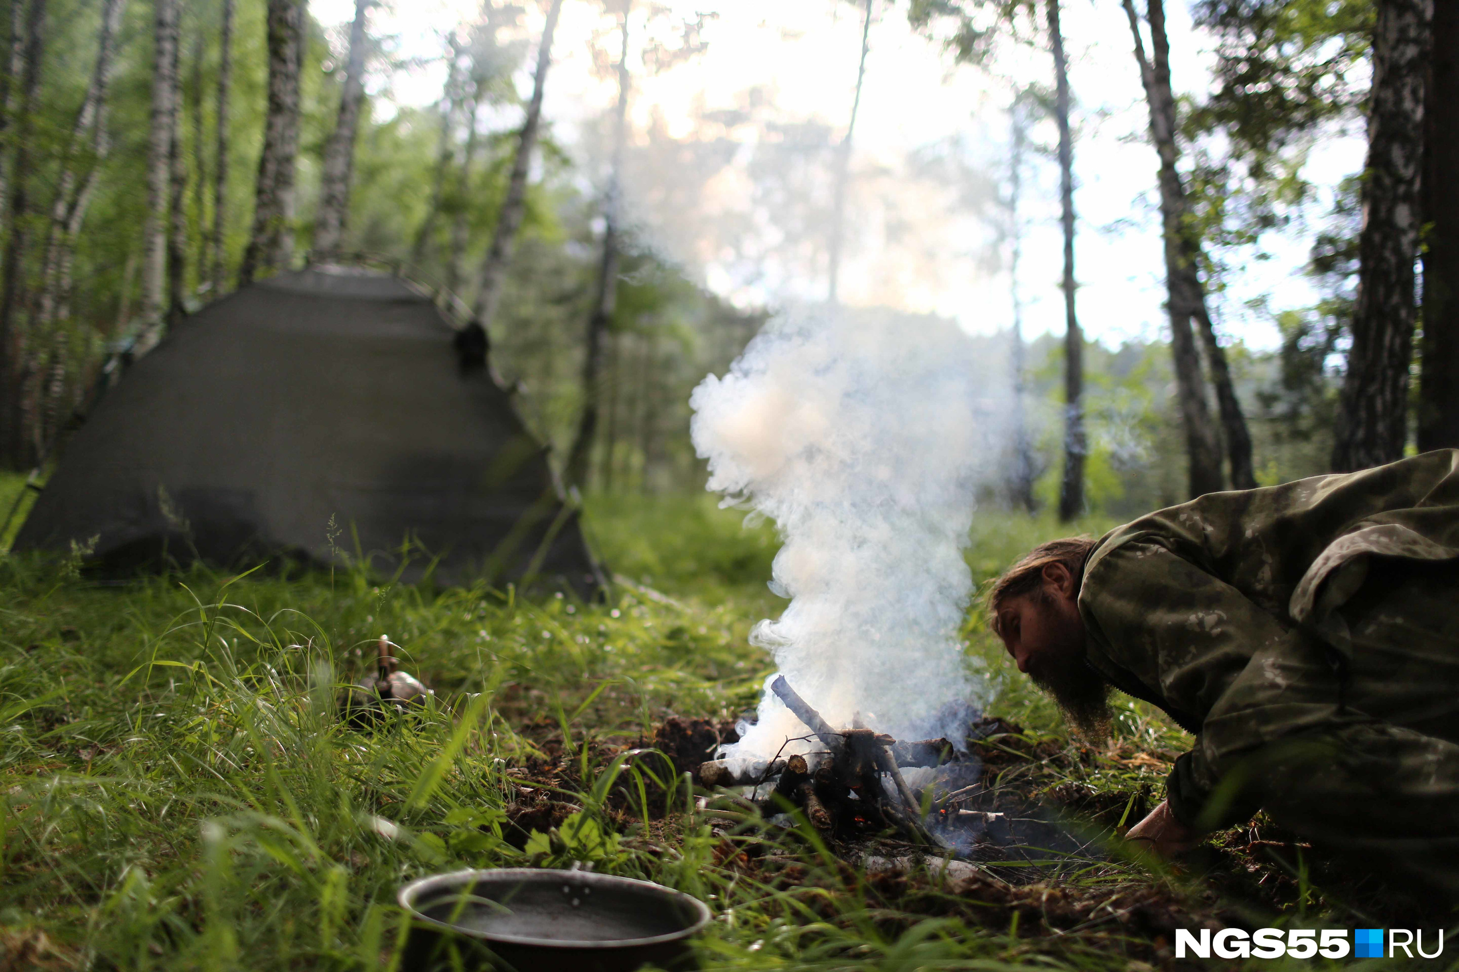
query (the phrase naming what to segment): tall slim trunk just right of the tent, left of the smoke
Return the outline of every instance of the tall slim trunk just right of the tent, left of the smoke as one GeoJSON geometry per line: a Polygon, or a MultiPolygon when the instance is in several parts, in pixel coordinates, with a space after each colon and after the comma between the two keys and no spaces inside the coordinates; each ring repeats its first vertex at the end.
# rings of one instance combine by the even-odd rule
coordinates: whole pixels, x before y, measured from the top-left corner
{"type": "Polygon", "coordinates": [[[617,128],[613,137],[613,169],[608,173],[608,192],[604,205],[603,261],[598,264],[598,293],[588,318],[588,344],[582,357],[582,414],[578,420],[578,434],[568,453],[566,479],[579,490],[588,488],[588,458],[592,453],[592,437],[598,428],[598,375],[603,370],[603,335],[613,322],[619,289],[619,179],[623,166],[623,146],[627,141],[629,114],[629,7],[623,7],[623,51],[619,55],[619,111],[617,128]]]}

